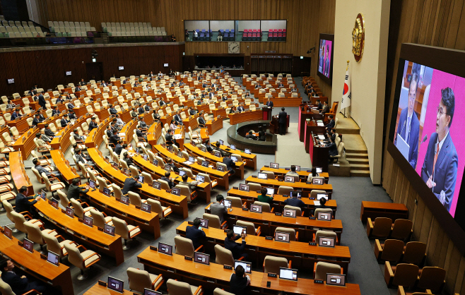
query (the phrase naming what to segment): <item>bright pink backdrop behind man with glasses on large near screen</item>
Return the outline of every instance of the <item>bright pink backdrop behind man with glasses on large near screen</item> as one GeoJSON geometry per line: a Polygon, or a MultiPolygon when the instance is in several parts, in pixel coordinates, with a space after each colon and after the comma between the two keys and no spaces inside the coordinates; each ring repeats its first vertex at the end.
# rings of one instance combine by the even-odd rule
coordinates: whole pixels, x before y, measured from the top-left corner
{"type": "Polygon", "coordinates": [[[421,176],[421,168],[423,167],[423,162],[425,162],[428,142],[431,138],[431,134],[436,132],[437,106],[439,106],[441,101],[441,90],[447,87],[452,88],[455,96],[454,118],[452,119],[452,125],[449,129],[449,136],[451,136],[455,150],[457,150],[457,155],[459,156],[454,199],[452,200],[452,205],[449,211],[452,217],[454,217],[465,165],[465,138],[463,136],[465,125],[465,78],[437,70],[432,72],[430,96],[428,97],[428,108],[426,109],[425,124],[423,125],[422,135],[422,139],[425,135],[428,135],[428,140],[422,143],[418,150],[416,171],[421,176]]]}

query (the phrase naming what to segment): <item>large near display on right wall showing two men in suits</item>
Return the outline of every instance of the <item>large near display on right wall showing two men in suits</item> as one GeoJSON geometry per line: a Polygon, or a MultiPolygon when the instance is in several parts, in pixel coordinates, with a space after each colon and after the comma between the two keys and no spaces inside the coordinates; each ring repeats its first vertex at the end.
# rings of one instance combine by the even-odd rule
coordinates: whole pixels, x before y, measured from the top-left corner
{"type": "Polygon", "coordinates": [[[465,78],[404,61],[394,145],[452,217],[465,166],[465,78]]]}

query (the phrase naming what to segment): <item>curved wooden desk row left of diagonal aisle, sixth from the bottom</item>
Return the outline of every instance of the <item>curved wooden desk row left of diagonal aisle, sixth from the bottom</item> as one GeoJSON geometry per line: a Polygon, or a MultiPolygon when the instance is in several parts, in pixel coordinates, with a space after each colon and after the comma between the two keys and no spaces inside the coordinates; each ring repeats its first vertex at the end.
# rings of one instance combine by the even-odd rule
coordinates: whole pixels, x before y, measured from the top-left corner
{"type": "Polygon", "coordinates": [[[186,162],[186,159],[184,159],[183,157],[178,157],[166,148],[163,148],[162,145],[153,145],[152,148],[154,152],[158,152],[158,155],[160,157],[163,157],[164,159],[171,158],[173,162],[175,162],[177,167],[186,167],[192,169],[192,171],[195,171],[196,173],[201,172],[208,174],[212,181],[216,180],[218,181],[219,186],[223,186],[226,190],[229,189],[228,171],[218,171],[216,169],[201,166],[201,164],[197,164],[196,162],[190,165],[184,164],[184,162],[186,162]]]}

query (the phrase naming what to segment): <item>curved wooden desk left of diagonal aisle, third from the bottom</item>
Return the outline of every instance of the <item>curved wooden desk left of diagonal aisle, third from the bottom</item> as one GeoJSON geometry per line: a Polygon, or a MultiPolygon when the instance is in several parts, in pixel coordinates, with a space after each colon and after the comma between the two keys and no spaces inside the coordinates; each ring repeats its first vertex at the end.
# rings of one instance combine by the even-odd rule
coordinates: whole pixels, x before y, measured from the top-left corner
{"type": "Polygon", "coordinates": [[[142,211],[132,204],[124,205],[114,197],[107,197],[98,190],[90,189],[86,195],[98,210],[123,219],[127,224],[139,226],[142,231],[153,233],[155,240],[160,238],[160,217],[157,213],[142,211]]]}

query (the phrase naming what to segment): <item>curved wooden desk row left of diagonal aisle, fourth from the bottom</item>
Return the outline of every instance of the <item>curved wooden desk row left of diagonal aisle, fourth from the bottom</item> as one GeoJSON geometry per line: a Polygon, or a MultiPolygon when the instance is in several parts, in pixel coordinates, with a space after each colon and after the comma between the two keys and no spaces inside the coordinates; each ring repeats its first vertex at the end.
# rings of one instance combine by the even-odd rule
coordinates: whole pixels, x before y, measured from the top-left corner
{"type": "MultiPolygon", "coordinates": [[[[115,183],[122,188],[124,181],[128,178],[128,176],[124,175],[121,171],[114,169],[111,164],[105,162],[105,159],[103,159],[100,155],[100,151],[95,150],[95,148],[88,148],[88,153],[95,163],[95,167],[98,167],[98,169],[102,171],[102,174],[105,175],[110,182],[115,183]]],[[[158,190],[152,186],[148,186],[147,183],[142,183],[142,188],[140,188],[137,193],[140,193],[141,197],[159,200],[165,207],[171,206],[172,211],[182,215],[182,218],[184,219],[189,216],[187,211],[187,198],[184,195],[172,195],[171,193],[167,193],[165,190],[158,190]]]]}

